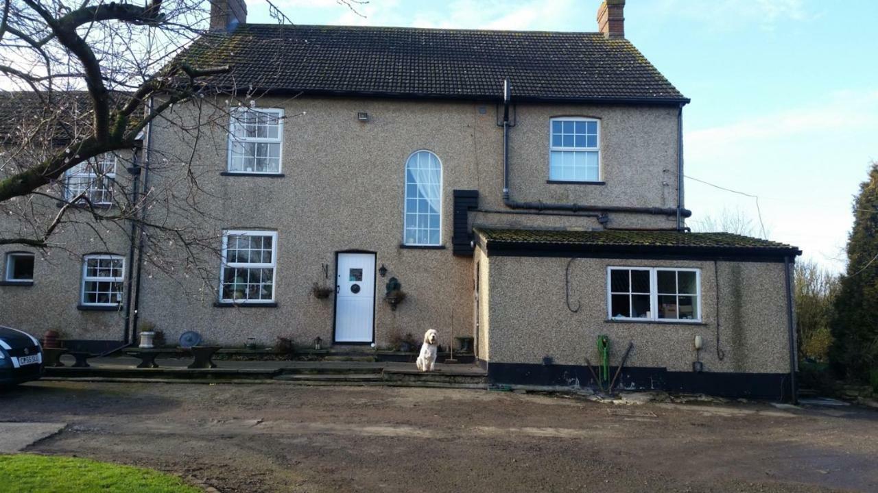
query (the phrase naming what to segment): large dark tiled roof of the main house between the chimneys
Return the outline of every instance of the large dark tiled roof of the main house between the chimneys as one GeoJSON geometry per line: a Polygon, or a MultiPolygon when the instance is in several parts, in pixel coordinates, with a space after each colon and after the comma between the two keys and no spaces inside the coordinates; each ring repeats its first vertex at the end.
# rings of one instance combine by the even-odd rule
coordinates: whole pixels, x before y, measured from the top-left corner
{"type": "Polygon", "coordinates": [[[223,90],[403,98],[686,104],[627,39],[599,32],[239,25],[197,39],[182,60],[228,64],[223,90]]]}

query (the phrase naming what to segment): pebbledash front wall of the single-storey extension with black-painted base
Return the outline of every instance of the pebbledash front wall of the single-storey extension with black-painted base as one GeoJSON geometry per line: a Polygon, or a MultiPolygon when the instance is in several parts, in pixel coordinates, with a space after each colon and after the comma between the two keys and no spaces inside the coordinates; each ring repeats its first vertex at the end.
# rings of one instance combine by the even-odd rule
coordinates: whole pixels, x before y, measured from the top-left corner
{"type": "Polygon", "coordinates": [[[609,361],[614,372],[629,342],[634,344],[619,382],[624,388],[788,397],[782,259],[715,262],[576,258],[570,271],[570,301],[574,309],[579,305],[579,311],[573,313],[567,308],[565,294],[569,257],[489,257],[480,249],[477,257],[486,277],[483,282],[491,286],[479,305],[485,333],[478,357],[486,360],[481,363],[487,366],[494,382],[592,382],[586,358],[598,364],[597,338],[605,334],[610,340],[609,361]],[[609,320],[607,268],[626,266],[700,269],[702,321],[609,320]],[[704,364],[703,373],[695,373],[692,367],[696,361],[696,335],[703,339],[702,351],[697,355],[704,364]],[[549,365],[543,361],[546,356],[551,358],[549,365]]]}

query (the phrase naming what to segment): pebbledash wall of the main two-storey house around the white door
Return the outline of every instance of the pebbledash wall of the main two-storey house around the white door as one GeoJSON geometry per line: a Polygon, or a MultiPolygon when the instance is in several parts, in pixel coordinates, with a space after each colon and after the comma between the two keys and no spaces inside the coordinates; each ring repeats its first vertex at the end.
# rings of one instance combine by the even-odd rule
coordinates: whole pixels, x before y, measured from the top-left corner
{"type": "MultiPolygon", "coordinates": [[[[377,279],[377,345],[387,344],[394,333],[411,332],[420,339],[430,328],[438,329],[448,345],[452,327],[454,336],[471,336],[474,325],[473,262],[451,253],[452,190],[479,190],[479,208],[485,212],[472,216],[488,224],[599,226],[594,217],[501,213],[502,130],[494,104],[265,97],[255,105],[284,108],[284,176],[220,175],[227,164],[227,136],[219,126],[198,140],[193,167],[199,185],[216,195],[202,204],[209,216],[219,218],[215,228],[277,230],[277,307],[218,308],[214,293],[197,294],[197,282],[145,278],[140,318],[154,322],[171,340],[194,330],[229,345],[248,338],[271,343],[277,336],[299,343],[319,336],[329,342],[335,302],[313,298],[311,286],[334,286],[336,252],[365,250],[376,252],[376,266],[388,269],[377,279]],[[368,112],[368,123],[357,120],[360,111],[368,112]],[[435,153],[443,165],[443,249],[400,247],[405,164],[421,149],[435,153]],[[329,270],[326,281],[323,265],[329,270]],[[396,311],[381,299],[390,277],[398,278],[407,293],[396,311]]],[[[191,108],[175,113],[193,118],[191,108]]],[[[510,163],[515,200],[674,207],[676,181],[666,169],[677,160],[676,118],[676,108],[519,105],[510,163]],[[554,116],[601,118],[606,185],[547,183],[554,116]]],[[[154,136],[156,148],[169,159],[192,153],[191,139],[174,127],[156,125],[154,136]]],[[[610,220],[615,226],[673,226],[664,216],[611,214],[610,220]]],[[[216,271],[219,280],[219,263],[216,271]]]]}

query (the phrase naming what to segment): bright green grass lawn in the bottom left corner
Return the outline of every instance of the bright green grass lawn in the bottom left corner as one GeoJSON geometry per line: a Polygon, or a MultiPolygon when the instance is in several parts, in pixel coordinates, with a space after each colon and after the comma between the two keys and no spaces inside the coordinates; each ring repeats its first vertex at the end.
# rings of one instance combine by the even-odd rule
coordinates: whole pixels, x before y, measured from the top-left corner
{"type": "Polygon", "coordinates": [[[158,471],[52,455],[0,455],[0,493],[201,493],[158,471]]]}

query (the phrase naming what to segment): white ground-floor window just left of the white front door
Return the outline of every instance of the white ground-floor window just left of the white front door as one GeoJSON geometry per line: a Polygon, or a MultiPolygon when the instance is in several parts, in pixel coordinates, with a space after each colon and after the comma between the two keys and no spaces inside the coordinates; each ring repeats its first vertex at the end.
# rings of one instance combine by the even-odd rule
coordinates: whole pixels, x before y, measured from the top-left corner
{"type": "Polygon", "coordinates": [[[277,267],[277,232],[227,231],[223,235],[222,303],[271,303],[277,267]]]}

